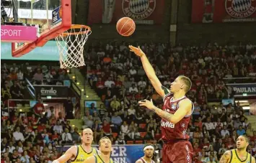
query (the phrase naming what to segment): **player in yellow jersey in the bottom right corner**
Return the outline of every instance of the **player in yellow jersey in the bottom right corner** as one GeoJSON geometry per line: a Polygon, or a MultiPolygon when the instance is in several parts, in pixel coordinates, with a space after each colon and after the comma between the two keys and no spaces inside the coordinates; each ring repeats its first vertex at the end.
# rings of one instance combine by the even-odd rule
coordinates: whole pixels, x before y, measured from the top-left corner
{"type": "Polygon", "coordinates": [[[255,163],[255,158],[246,152],[249,145],[247,136],[241,135],[237,138],[237,149],[226,151],[219,163],[255,163]]]}

